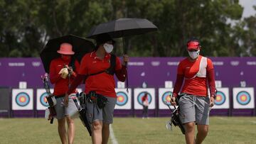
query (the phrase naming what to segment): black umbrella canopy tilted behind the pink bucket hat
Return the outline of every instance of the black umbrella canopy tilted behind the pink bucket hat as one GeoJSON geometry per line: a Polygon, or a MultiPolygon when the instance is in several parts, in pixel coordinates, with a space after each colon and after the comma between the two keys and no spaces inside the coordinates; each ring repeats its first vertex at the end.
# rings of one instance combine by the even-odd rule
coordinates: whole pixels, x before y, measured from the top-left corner
{"type": "Polygon", "coordinates": [[[83,55],[87,52],[91,52],[94,50],[95,45],[89,40],[85,40],[84,38],[80,38],[75,35],[65,35],[59,38],[53,38],[48,41],[45,48],[41,50],[40,57],[43,62],[43,67],[45,71],[48,73],[50,69],[50,62],[60,57],[60,54],[57,50],[60,49],[61,43],[70,43],[73,45],[73,51],[75,52],[75,59],[80,62],[82,60],[83,55]]]}

